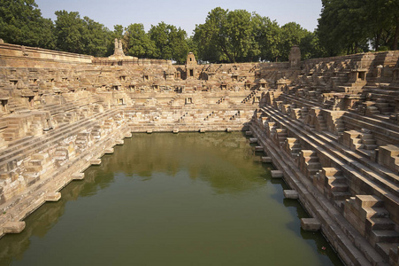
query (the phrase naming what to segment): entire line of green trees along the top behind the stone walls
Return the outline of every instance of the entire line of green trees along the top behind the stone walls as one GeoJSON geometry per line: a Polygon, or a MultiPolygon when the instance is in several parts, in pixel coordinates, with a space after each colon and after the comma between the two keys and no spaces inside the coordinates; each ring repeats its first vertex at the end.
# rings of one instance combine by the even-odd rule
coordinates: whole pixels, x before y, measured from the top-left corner
{"type": "Polygon", "coordinates": [[[183,64],[189,51],[209,62],[287,61],[297,44],[303,59],[361,51],[396,50],[399,39],[399,0],[321,0],[315,32],[295,22],[280,27],[256,12],[221,7],[208,13],[189,36],[165,22],[146,32],[140,23],[113,30],[79,12],[55,12],[57,20],[42,18],[35,0],[0,0],[0,37],[6,43],[89,54],[113,53],[114,39],[125,54],[171,59],[183,64]]]}

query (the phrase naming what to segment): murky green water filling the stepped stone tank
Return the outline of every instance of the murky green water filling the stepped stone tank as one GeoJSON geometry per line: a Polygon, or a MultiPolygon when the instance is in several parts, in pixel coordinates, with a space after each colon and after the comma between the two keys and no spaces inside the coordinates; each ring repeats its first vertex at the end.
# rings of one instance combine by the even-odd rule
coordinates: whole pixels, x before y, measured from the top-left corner
{"type": "Polygon", "coordinates": [[[134,134],[0,239],[0,265],[341,265],[260,156],[242,133],[134,134]]]}

